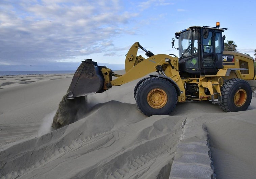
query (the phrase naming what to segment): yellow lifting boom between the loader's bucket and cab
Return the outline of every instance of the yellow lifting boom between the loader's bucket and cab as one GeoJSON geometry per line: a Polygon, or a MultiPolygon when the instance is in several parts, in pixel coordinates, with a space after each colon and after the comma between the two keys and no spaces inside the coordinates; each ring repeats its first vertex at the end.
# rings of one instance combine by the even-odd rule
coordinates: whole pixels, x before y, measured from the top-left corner
{"type": "MultiPolygon", "coordinates": [[[[152,72],[158,72],[159,74],[162,72],[162,75],[164,76],[163,78],[167,78],[169,81],[171,81],[180,94],[178,101],[184,102],[185,94],[183,92],[185,89],[179,76],[179,67],[177,63],[178,58],[165,54],[154,55],[152,52],[143,48],[146,55],[150,56],[149,58],[145,59],[141,55],[137,56],[138,48],[143,47],[139,45],[139,42],[135,42],[126,56],[126,73],[119,76],[117,79],[110,81],[109,77],[111,76],[111,71],[107,70],[106,68],[102,68],[102,73],[104,74],[105,78],[104,89],[111,88],[112,86],[123,85],[133,80],[142,78],[152,72]],[[157,69],[158,66],[168,65],[171,67],[168,68],[168,70],[165,70],[168,75],[163,71],[160,72],[157,69]]],[[[116,76],[116,74],[113,76],[116,76]]]]}

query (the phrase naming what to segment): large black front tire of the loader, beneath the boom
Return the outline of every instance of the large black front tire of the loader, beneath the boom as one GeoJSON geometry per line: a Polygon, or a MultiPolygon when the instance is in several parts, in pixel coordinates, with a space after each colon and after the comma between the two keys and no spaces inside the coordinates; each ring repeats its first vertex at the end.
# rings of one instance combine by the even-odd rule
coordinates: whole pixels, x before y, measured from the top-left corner
{"type": "MultiPolygon", "coordinates": [[[[158,95],[159,97],[160,95],[158,95]]],[[[161,98],[161,97],[160,97],[161,98]]],[[[152,115],[170,115],[177,104],[177,91],[173,84],[167,79],[161,77],[152,77],[144,80],[137,88],[135,100],[138,109],[147,116],[152,115]],[[162,91],[165,94],[161,107],[150,106],[148,95],[153,94],[154,90],[162,91]]]]}

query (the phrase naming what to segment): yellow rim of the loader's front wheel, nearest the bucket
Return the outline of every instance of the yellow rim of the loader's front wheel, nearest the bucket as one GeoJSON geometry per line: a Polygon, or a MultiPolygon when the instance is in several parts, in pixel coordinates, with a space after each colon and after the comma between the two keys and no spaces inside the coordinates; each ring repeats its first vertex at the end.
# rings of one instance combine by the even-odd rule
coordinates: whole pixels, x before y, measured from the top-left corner
{"type": "Polygon", "coordinates": [[[162,108],[167,103],[167,94],[160,88],[154,88],[148,93],[147,101],[154,109],[162,108]]]}

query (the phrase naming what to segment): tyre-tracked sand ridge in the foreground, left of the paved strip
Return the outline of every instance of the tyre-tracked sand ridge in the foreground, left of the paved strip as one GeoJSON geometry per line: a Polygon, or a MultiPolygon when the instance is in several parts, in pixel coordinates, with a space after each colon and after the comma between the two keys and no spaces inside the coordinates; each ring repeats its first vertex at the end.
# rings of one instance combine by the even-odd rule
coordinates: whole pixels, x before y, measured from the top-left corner
{"type": "Polygon", "coordinates": [[[9,162],[1,160],[3,175],[22,174],[21,178],[30,178],[37,174],[39,178],[51,178],[57,170],[62,171],[58,178],[157,176],[174,157],[180,117],[146,117],[135,105],[117,101],[95,108],[76,123],[5,149],[2,156],[9,162]],[[117,110],[106,116],[104,111],[113,107],[130,110],[117,110]],[[21,149],[18,155],[17,148],[21,149]],[[62,166],[70,163],[80,165],[74,173],[73,168],[65,168],[64,172],[62,166]]]}

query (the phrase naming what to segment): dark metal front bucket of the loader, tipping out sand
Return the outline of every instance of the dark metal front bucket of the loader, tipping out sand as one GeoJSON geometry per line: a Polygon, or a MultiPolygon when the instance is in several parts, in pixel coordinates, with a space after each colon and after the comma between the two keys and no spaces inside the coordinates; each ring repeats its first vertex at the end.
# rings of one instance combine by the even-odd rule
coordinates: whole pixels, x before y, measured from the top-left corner
{"type": "Polygon", "coordinates": [[[103,75],[97,62],[87,59],[77,68],[65,98],[72,99],[103,92],[103,84],[103,75]]]}

